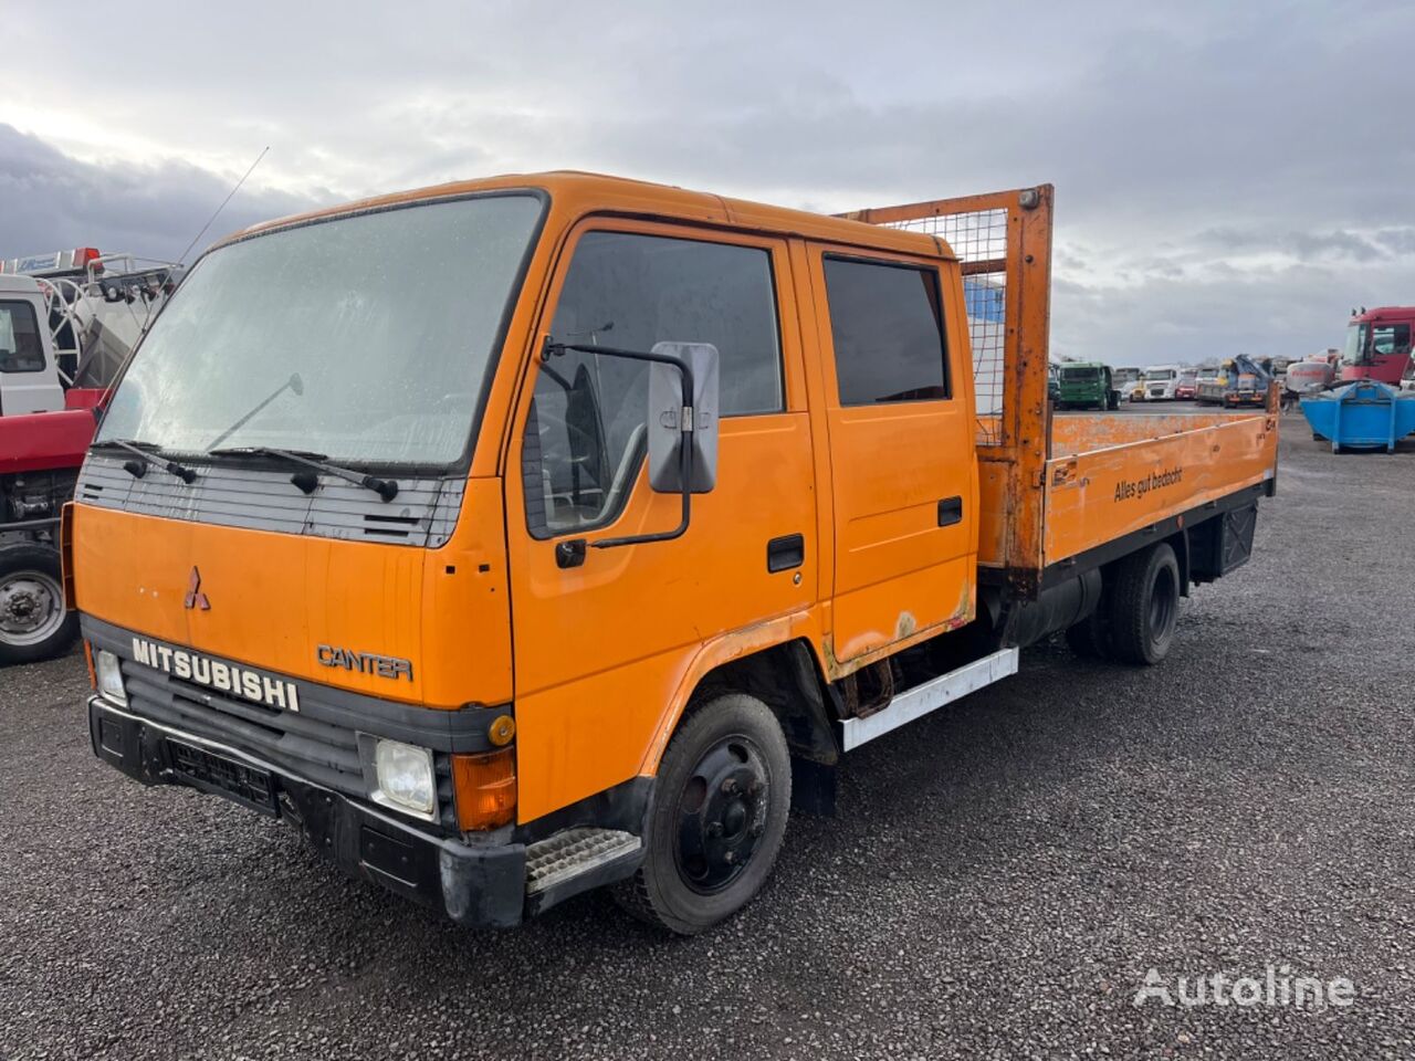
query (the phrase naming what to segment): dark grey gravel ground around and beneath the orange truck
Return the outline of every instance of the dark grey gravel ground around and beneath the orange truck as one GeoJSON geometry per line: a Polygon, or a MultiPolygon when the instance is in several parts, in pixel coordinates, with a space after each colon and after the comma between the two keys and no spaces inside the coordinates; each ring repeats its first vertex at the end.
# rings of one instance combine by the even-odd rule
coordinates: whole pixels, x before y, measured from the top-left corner
{"type": "Polygon", "coordinates": [[[1302,427],[1163,666],[1041,647],[870,744],[696,939],[601,895],[456,929],[102,767],[81,659],[3,672],[0,1058],[1415,1057],[1415,453],[1302,427]],[[1268,965],[1356,1000],[1133,1004],[1268,965]]]}

